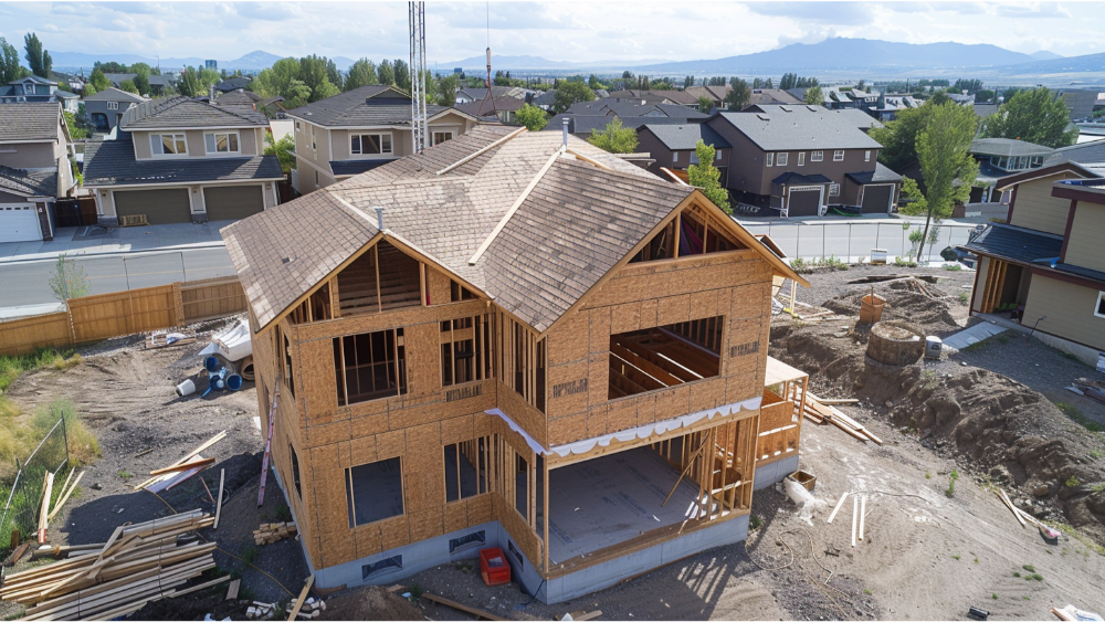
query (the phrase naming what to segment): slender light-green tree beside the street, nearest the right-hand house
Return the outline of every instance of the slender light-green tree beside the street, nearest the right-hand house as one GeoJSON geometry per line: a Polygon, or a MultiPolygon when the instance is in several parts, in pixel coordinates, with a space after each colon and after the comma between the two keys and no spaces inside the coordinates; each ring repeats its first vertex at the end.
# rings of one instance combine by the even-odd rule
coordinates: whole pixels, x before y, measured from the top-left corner
{"type": "MultiPolygon", "coordinates": [[[[978,177],[978,160],[970,154],[970,144],[978,129],[975,110],[954,103],[932,108],[928,120],[917,134],[917,158],[925,178],[924,200],[902,208],[906,214],[925,215],[925,230],[917,249],[918,261],[924,256],[925,242],[934,221],[938,224],[951,215],[956,203],[967,202],[978,177]]],[[[915,192],[914,189],[907,191],[915,192]]]]}

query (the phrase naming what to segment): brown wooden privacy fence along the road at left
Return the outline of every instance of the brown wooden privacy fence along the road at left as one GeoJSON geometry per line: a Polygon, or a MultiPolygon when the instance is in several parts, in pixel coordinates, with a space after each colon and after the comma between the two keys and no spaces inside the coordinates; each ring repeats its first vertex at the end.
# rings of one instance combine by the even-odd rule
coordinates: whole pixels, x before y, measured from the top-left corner
{"type": "Polygon", "coordinates": [[[73,298],[69,310],[0,323],[0,355],[161,330],[243,313],[245,305],[233,276],[73,298]]]}

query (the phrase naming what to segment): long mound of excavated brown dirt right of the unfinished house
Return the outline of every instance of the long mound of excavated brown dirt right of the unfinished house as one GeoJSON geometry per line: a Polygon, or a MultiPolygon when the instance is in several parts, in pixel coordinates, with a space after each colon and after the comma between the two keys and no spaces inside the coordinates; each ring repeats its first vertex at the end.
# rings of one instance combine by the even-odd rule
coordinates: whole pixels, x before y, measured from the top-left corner
{"type": "Polygon", "coordinates": [[[863,400],[964,466],[1062,507],[1073,525],[1105,542],[1105,494],[1085,485],[1105,481],[1105,473],[1099,462],[1078,457],[1093,450],[1088,432],[1041,393],[991,371],[955,367],[955,373],[939,373],[920,362],[875,361],[864,355],[866,329],[785,320],[772,326],[771,355],[811,371],[811,388],[821,397],[863,400]]]}

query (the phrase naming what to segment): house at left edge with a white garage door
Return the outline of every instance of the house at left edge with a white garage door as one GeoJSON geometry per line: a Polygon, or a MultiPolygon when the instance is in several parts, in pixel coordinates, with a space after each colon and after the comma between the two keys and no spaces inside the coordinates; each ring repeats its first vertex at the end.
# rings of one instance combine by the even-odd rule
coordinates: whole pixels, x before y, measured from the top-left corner
{"type": "Polygon", "coordinates": [[[57,103],[0,104],[0,242],[50,241],[54,202],[76,188],[57,103]]]}

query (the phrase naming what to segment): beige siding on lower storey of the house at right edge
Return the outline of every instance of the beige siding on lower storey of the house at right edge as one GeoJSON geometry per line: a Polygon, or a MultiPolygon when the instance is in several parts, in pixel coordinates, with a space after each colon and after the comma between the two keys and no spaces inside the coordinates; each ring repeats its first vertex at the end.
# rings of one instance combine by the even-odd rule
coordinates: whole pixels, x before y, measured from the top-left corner
{"type": "Polygon", "coordinates": [[[1094,315],[1097,293],[1095,288],[1035,274],[1021,324],[1033,326],[1041,316],[1048,316],[1040,321],[1040,330],[1105,349],[1105,317],[1094,315]]]}

